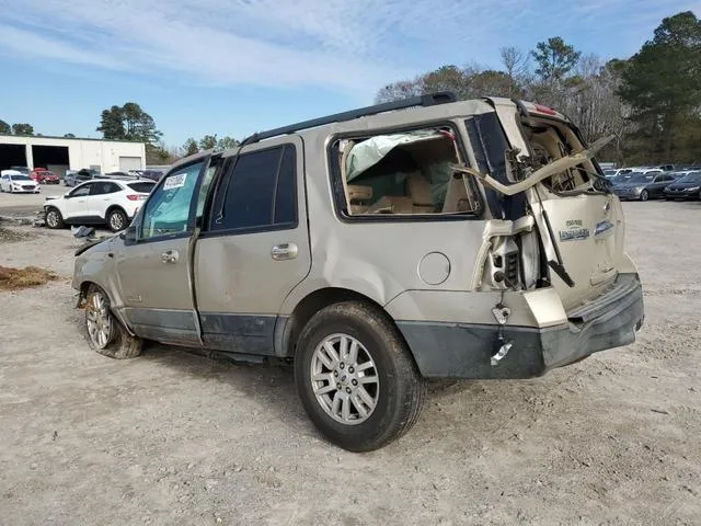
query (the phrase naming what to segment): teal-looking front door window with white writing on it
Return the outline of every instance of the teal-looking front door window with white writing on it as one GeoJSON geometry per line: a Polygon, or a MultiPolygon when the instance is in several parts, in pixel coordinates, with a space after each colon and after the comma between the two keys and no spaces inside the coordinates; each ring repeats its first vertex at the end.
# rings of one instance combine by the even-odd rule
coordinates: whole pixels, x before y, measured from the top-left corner
{"type": "Polygon", "coordinates": [[[203,168],[203,161],[169,174],[146,204],[140,239],[187,231],[189,204],[203,168]]]}

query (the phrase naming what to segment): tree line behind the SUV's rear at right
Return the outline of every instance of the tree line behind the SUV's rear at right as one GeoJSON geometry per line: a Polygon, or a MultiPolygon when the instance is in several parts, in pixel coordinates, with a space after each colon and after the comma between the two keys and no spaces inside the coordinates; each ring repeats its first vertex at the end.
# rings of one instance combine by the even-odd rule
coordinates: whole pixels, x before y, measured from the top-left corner
{"type": "Polygon", "coordinates": [[[701,21],[690,11],[664,19],[628,59],[583,55],[555,36],[530,52],[502,48],[499,69],[446,65],[393,82],[376,102],[445,90],[463,100],[506,96],[552,106],[587,141],[616,135],[602,160],[701,161],[701,21]]]}

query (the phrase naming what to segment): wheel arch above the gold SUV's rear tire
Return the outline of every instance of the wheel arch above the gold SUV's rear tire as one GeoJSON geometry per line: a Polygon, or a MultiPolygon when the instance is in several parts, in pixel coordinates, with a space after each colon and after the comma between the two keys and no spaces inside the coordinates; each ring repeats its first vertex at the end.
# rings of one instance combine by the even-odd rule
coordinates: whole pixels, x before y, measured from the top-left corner
{"type": "Polygon", "coordinates": [[[289,317],[279,317],[275,324],[275,354],[279,357],[294,357],[297,352],[297,341],[307,322],[320,310],[344,301],[361,301],[372,306],[397,329],[399,338],[409,348],[414,363],[416,362],[414,352],[389,312],[369,296],[343,287],[319,288],[304,296],[289,317]]]}

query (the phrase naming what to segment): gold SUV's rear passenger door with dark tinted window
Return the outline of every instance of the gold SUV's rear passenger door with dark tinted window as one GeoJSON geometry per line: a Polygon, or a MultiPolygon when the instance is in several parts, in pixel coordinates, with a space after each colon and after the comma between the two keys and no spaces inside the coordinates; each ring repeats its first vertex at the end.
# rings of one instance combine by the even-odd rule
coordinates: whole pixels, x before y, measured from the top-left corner
{"type": "Polygon", "coordinates": [[[298,137],[244,148],[226,161],[195,248],[205,344],[273,354],[283,301],[311,265],[298,137]]]}

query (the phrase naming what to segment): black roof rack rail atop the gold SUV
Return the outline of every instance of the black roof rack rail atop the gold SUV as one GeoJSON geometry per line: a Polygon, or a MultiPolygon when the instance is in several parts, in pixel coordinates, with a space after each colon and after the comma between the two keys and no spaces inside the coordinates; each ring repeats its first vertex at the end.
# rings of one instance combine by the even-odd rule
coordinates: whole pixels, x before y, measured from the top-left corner
{"type": "Polygon", "coordinates": [[[310,121],[302,121],[301,123],[290,124],[289,126],[283,126],[280,128],[269,129],[267,132],[260,132],[250,135],[240,146],[257,142],[258,140],[269,139],[278,135],[288,135],[302,129],[314,128],[317,126],[323,126],[325,124],[342,123],[344,121],[352,121],[358,117],[365,117],[368,115],[376,115],[378,113],[392,112],[394,110],[404,110],[414,106],[435,106],[438,104],[447,104],[449,102],[456,102],[458,98],[451,91],[439,91],[437,93],[427,93],[423,95],[411,96],[409,99],[402,99],[401,101],[384,102],[382,104],[375,104],[372,106],[360,107],[358,110],[350,110],[349,112],[335,113],[325,117],[312,118],[310,121]]]}

